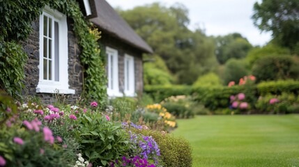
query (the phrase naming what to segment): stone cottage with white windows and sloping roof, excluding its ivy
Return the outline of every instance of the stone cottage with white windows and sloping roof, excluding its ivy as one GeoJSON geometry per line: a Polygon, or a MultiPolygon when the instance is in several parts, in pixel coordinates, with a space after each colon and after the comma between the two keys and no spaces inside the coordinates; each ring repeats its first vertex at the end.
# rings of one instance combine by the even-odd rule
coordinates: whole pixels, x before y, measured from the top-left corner
{"type": "MultiPolygon", "coordinates": [[[[105,0],[79,1],[82,12],[102,31],[100,43],[107,56],[107,95],[133,97],[143,90],[142,54],[153,50],[105,0]]],[[[72,19],[45,7],[33,23],[33,32],[24,42],[29,55],[25,95],[37,95],[53,102],[53,93],[75,101],[82,93],[83,72],[80,49],[72,19]]]]}

